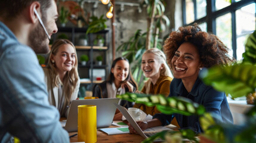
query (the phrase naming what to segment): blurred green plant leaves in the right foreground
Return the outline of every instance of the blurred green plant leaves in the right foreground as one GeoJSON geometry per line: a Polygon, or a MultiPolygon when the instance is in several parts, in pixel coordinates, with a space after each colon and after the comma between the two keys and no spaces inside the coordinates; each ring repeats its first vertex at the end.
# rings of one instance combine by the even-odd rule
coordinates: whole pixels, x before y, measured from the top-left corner
{"type": "MultiPolygon", "coordinates": [[[[200,74],[206,85],[214,87],[217,91],[224,91],[231,98],[243,97],[255,92],[256,88],[256,32],[249,35],[243,53],[241,63],[223,65],[205,69],[200,74]]],[[[183,97],[164,97],[162,95],[146,94],[123,94],[119,95],[122,100],[137,102],[148,106],[155,106],[161,113],[178,113],[185,116],[199,116],[203,130],[203,138],[214,142],[256,142],[256,107],[254,106],[245,113],[246,122],[242,125],[221,123],[214,114],[206,113],[203,105],[199,105],[183,97]]],[[[156,138],[162,138],[166,142],[183,142],[189,139],[199,142],[195,132],[190,129],[179,131],[163,131],[157,133],[143,142],[153,142],[156,138]]]]}

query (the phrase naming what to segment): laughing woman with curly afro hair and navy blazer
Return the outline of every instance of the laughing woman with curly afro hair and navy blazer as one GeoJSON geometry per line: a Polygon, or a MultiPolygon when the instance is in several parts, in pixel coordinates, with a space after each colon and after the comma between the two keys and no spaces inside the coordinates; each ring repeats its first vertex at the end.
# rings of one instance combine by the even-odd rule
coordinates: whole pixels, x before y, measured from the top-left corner
{"type": "MultiPolygon", "coordinates": [[[[215,91],[199,79],[199,72],[203,67],[229,64],[233,61],[227,54],[227,46],[217,36],[202,32],[201,28],[194,24],[171,32],[165,41],[164,52],[174,76],[169,97],[189,98],[202,104],[207,112],[214,114],[214,117],[223,123],[233,123],[225,93],[215,91]]],[[[181,129],[192,129],[196,133],[203,132],[197,116],[181,114],[155,114],[152,120],[147,123],[138,123],[138,125],[143,130],[153,126],[165,126],[171,123],[174,117],[181,129]]],[[[131,126],[129,130],[131,133],[136,132],[131,126]]]]}

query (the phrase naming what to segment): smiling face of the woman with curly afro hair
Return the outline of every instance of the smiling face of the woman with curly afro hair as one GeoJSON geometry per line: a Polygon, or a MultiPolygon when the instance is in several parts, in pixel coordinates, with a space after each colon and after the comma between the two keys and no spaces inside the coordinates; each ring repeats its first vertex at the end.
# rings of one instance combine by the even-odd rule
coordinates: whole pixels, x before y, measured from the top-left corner
{"type": "Polygon", "coordinates": [[[199,68],[202,67],[198,48],[192,43],[182,43],[171,60],[172,73],[176,79],[198,78],[199,68]]]}

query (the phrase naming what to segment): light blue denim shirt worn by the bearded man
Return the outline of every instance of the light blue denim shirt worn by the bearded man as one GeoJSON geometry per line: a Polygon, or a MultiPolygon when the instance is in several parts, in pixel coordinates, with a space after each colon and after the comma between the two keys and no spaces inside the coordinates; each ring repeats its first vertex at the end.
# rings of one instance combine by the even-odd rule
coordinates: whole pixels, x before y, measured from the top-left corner
{"type": "MultiPolygon", "coordinates": [[[[18,24],[18,23],[17,23],[18,24]]],[[[35,52],[0,21],[0,142],[69,142],[35,52]]]]}

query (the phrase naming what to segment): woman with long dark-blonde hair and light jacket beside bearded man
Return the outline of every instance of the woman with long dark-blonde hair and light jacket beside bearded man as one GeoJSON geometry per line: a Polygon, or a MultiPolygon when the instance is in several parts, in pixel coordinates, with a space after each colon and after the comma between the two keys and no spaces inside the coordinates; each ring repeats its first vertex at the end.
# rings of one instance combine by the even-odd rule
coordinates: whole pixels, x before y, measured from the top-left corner
{"type": "Polygon", "coordinates": [[[70,102],[78,98],[80,86],[78,58],[72,42],[58,39],[53,43],[44,73],[50,104],[61,117],[67,117],[70,102]]]}

